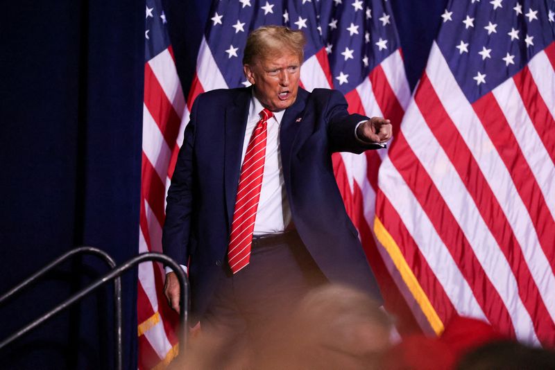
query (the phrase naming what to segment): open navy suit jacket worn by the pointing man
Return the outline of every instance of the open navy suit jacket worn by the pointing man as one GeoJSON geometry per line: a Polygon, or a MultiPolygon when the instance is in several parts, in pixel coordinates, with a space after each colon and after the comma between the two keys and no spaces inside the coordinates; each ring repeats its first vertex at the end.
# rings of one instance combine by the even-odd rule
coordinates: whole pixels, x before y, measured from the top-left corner
{"type": "MultiPolygon", "coordinates": [[[[251,88],[241,88],[196,98],[171,179],[162,245],[178,263],[189,261],[196,319],[224,274],[251,96],[251,88]]],[[[314,261],[330,281],[380,299],[357,229],[345,212],[331,159],[332,152],[377,148],[355,138],[355,126],[364,119],[348,114],[339,91],[309,93],[299,88],[282,118],[280,149],[293,222],[314,261]]]]}

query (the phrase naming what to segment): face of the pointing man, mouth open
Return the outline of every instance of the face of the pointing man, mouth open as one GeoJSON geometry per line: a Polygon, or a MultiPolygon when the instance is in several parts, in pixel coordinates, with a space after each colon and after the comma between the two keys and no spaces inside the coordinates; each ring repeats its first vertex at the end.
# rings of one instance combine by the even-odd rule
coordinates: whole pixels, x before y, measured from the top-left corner
{"type": "Polygon", "coordinates": [[[276,112],[290,107],[297,98],[300,60],[295,53],[275,58],[256,58],[244,65],[248,82],[255,85],[255,96],[265,108],[276,112]]]}

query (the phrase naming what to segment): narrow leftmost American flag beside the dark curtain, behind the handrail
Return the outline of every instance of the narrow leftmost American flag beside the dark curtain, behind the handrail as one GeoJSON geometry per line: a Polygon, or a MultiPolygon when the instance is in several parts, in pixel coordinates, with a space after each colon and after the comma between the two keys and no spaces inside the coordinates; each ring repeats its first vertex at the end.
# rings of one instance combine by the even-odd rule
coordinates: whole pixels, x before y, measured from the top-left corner
{"type": "MultiPolygon", "coordinates": [[[[139,252],[162,252],[164,199],[188,112],[161,0],[146,0],[139,252]]],[[[177,353],[178,317],[163,294],[158,263],[139,265],[138,368],[163,368],[177,353]]]]}

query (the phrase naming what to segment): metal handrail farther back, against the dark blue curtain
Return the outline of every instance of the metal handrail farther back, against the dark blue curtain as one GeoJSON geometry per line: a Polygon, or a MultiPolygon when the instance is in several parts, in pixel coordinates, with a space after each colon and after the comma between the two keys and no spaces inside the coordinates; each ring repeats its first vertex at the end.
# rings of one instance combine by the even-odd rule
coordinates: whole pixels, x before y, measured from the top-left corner
{"type": "MultiPolygon", "coordinates": [[[[13,287],[12,289],[8,290],[8,292],[2,294],[2,296],[0,297],[0,304],[10,299],[10,297],[12,297],[20,290],[24,289],[26,286],[37,281],[37,279],[39,279],[42,275],[46,274],[46,272],[49,272],[54,267],[60,265],[60,263],[63,263],[67,261],[70,257],[78,254],[92,254],[94,256],[97,256],[101,258],[108,265],[108,267],[110,267],[110,270],[113,270],[114,267],[116,267],[116,263],[114,259],[103,250],[95,247],[87,247],[87,246],[77,247],[75,249],[71,249],[65,254],[62,254],[61,256],[53,260],[51,263],[45,265],[44,267],[42,267],[42,269],[35,272],[35,274],[32,274],[27,279],[15,285],[15,287],[13,287]]],[[[116,364],[116,369],[121,370],[123,366],[121,364],[121,358],[123,356],[123,344],[121,340],[121,279],[119,279],[119,276],[116,279],[114,279],[114,318],[116,320],[114,325],[114,328],[115,328],[114,337],[116,342],[115,343],[116,358],[118,359],[116,364]]],[[[0,346],[0,348],[1,347],[2,346],[0,346]]]]}

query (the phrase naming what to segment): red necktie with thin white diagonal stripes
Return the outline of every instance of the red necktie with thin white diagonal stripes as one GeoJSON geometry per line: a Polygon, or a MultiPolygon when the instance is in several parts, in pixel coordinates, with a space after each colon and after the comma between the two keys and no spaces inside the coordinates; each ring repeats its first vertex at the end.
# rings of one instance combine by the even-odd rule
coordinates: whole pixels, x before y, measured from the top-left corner
{"type": "Polygon", "coordinates": [[[248,265],[250,261],[250,245],[253,243],[256,211],[266,158],[266,121],[272,116],[273,113],[266,108],[260,112],[260,121],[250,136],[245,159],[241,166],[228,247],[228,262],[234,274],[248,265]]]}

